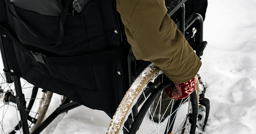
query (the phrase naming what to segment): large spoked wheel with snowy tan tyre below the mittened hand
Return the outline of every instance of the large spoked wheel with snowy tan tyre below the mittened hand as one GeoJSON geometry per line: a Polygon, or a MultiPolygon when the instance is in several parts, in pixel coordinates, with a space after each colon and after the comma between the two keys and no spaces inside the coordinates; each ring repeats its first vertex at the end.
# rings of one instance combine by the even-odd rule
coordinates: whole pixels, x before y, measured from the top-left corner
{"type": "Polygon", "coordinates": [[[107,133],[122,133],[122,129],[123,133],[129,134],[195,133],[198,110],[198,95],[196,90],[185,99],[169,99],[167,110],[159,109],[160,111],[164,111],[164,114],[159,114],[159,111],[156,114],[157,110],[152,111],[153,103],[157,101],[156,105],[161,105],[163,90],[172,84],[171,81],[165,81],[159,84],[157,79],[161,78],[161,76],[163,76],[162,71],[154,64],[149,65],[138,76],[121,101],[107,133]],[[152,86],[153,88],[156,87],[153,91],[152,86]],[[158,95],[160,99],[154,101],[158,95]],[[137,115],[132,112],[134,111],[133,109],[138,110],[137,115]],[[166,112],[168,110],[169,113],[166,112]],[[163,115],[166,113],[168,115],[164,119],[163,115]],[[154,122],[154,116],[160,118],[154,122]]]}

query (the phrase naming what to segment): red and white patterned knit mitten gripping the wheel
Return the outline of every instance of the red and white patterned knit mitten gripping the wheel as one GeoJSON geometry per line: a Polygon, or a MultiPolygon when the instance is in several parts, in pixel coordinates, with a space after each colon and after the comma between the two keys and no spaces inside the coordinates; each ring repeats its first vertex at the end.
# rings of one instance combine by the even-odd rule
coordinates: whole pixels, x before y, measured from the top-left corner
{"type": "Polygon", "coordinates": [[[196,89],[196,76],[184,83],[175,83],[175,87],[164,89],[166,94],[172,99],[183,99],[188,97],[196,89]]]}

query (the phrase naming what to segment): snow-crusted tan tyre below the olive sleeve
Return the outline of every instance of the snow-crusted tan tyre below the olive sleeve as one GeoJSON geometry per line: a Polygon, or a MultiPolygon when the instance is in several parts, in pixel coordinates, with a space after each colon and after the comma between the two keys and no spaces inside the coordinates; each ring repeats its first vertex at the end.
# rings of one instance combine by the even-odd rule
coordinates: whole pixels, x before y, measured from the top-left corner
{"type": "Polygon", "coordinates": [[[163,72],[155,66],[150,64],[145,68],[142,73],[136,78],[129,90],[126,92],[120,105],[118,106],[113,119],[109,125],[106,134],[118,134],[122,130],[124,122],[127,120],[131,113],[132,107],[135,105],[136,100],[142,94],[142,91],[147,87],[148,82],[154,82],[154,79],[163,72]]]}

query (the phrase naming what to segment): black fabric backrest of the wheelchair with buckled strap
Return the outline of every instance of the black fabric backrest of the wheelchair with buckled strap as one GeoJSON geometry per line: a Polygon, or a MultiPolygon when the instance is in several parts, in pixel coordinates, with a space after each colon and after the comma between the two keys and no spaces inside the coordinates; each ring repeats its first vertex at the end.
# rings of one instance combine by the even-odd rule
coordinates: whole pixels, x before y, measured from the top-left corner
{"type": "Polygon", "coordinates": [[[113,116],[129,88],[115,1],[87,1],[80,13],[72,2],[1,1],[1,32],[12,38],[22,78],[113,116]]]}

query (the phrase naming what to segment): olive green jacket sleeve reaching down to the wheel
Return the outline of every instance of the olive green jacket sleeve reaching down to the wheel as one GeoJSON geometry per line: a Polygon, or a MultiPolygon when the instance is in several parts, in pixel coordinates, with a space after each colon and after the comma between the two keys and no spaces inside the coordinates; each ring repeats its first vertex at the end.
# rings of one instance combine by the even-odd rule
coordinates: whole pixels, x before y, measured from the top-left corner
{"type": "Polygon", "coordinates": [[[153,62],[176,83],[192,79],[201,61],[167,14],[164,0],[116,0],[137,60],[153,62]]]}

